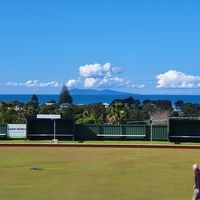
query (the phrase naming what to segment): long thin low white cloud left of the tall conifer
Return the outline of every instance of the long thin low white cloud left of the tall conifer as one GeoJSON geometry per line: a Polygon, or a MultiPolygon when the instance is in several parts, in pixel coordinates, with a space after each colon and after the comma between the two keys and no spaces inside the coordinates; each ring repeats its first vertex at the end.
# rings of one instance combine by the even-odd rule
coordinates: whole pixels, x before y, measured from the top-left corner
{"type": "Polygon", "coordinates": [[[24,86],[24,87],[60,87],[61,84],[57,81],[41,82],[39,80],[29,80],[26,82],[8,82],[7,86],[24,86]]]}

